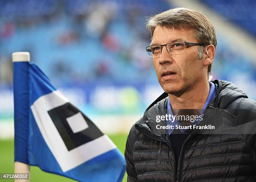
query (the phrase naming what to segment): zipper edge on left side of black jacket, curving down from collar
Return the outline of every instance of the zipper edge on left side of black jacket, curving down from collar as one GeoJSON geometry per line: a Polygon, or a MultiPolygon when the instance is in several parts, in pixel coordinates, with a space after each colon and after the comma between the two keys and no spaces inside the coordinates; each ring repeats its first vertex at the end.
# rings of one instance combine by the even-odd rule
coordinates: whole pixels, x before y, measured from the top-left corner
{"type": "Polygon", "coordinates": [[[138,131],[140,131],[141,133],[143,133],[144,135],[148,136],[151,139],[166,143],[172,149],[172,154],[174,156],[174,182],[175,182],[176,181],[176,161],[175,161],[176,158],[175,158],[175,154],[173,152],[172,144],[161,137],[151,134],[149,131],[146,131],[145,129],[139,127],[138,125],[135,125],[135,128],[138,129],[138,131]]]}

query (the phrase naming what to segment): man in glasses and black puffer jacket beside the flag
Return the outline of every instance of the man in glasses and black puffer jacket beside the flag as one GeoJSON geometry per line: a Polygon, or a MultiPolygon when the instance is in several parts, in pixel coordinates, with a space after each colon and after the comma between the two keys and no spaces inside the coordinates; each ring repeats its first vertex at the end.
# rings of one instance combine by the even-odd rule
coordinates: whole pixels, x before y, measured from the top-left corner
{"type": "Polygon", "coordinates": [[[146,51],[165,93],[128,135],[128,182],[256,181],[256,102],[233,83],[210,81],[213,25],[198,11],[176,8],[151,17],[147,28],[146,51]],[[206,124],[215,128],[193,128],[206,124]]]}

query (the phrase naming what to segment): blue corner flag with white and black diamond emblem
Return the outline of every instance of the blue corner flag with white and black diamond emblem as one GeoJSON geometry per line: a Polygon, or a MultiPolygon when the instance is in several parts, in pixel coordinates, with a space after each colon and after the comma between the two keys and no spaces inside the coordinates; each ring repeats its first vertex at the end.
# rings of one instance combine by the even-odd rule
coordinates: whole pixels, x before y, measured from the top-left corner
{"type": "Polygon", "coordinates": [[[115,144],[33,63],[13,63],[15,161],[82,182],[120,182],[115,144]]]}

